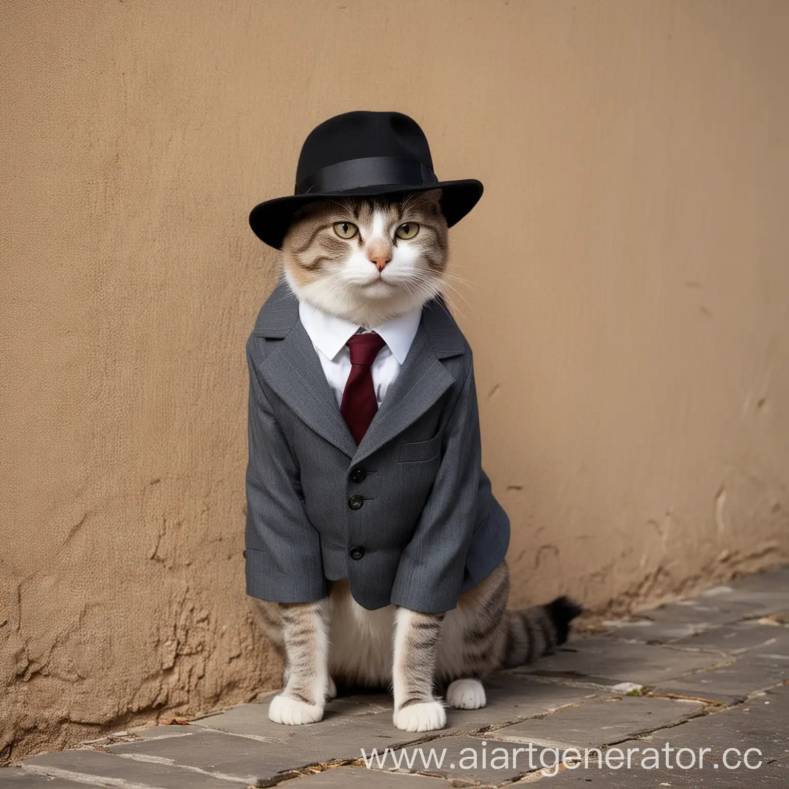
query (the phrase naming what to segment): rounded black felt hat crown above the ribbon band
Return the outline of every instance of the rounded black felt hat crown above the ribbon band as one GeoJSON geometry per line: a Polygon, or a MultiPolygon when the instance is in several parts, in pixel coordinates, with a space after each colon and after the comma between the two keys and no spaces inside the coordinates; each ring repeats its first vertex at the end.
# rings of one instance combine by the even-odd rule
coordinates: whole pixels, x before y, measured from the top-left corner
{"type": "Polygon", "coordinates": [[[410,159],[431,170],[433,166],[428,139],[413,118],[359,110],[335,115],[312,129],[301,146],[296,182],[324,167],[373,156],[410,159]]]}

